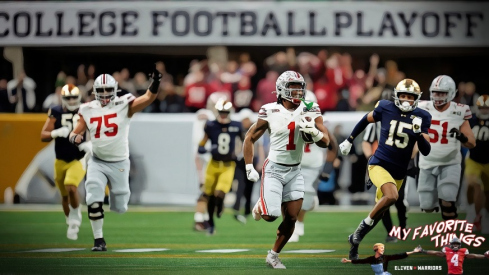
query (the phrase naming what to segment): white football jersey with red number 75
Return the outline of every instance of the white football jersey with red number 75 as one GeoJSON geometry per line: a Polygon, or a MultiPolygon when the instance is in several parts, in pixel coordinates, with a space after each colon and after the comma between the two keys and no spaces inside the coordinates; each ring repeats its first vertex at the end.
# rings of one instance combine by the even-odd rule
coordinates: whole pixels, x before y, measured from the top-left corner
{"type": "Polygon", "coordinates": [[[105,161],[122,161],[129,158],[129,103],[135,97],[125,94],[115,97],[102,107],[98,100],[84,103],[78,113],[87,124],[92,141],[93,155],[105,161]]]}

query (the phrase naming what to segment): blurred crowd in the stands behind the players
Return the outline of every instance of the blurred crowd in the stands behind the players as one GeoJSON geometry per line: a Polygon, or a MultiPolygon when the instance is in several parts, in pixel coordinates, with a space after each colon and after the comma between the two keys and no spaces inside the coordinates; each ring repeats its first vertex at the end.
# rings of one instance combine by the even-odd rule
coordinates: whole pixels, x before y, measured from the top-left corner
{"type": "MultiPolygon", "coordinates": [[[[365,68],[354,68],[349,53],[329,53],[320,50],[296,53],[294,48],[279,51],[269,56],[263,64],[255,64],[248,53],[241,53],[235,59],[192,60],[188,74],[173,76],[167,73],[165,64],[157,62],[157,68],[163,73],[158,99],[144,112],[179,113],[196,112],[206,107],[209,96],[220,93],[234,103],[237,111],[249,108],[258,111],[260,106],[274,102],[275,81],[286,70],[300,72],[307,81],[307,89],[313,91],[318,104],[325,111],[367,111],[375,103],[389,95],[394,86],[406,77],[395,61],[386,60],[379,66],[377,54],[369,60],[356,60],[355,64],[366,64],[365,68]],[[257,71],[263,77],[258,77],[257,71]]],[[[36,112],[47,111],[61,104],[61,87],[64,84],[77,85],[83,92],[83,101],[90,101],[94,79],[100,73],[96,64],[79,65],[76,76],[60,71],[55,80],[52,94],[45,99],[36,94],[35,79],[24,72],[15,79],[0,79],[0,112],[36,112]]],[[[149,86],[146,72],[131,72],[122,68],[112,72],[119,83],[119,89],[134,94],[143,94],[149,86]]],[[[456,101],[474,105],[477,98],[473,82],[460,82],[456,101]]],[[[428,93],[423,95],[429,96],[428,93]]]]}

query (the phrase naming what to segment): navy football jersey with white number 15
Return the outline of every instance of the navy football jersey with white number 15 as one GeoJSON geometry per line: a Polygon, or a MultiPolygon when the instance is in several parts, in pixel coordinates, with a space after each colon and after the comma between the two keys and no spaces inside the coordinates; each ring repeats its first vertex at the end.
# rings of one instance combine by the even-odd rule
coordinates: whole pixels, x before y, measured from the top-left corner
{"type": "Polygon", "coordinates": [[[431,115],[425,110],[416,108],[411,112],[402,112],[388,100],[381,100],[374,109],[375,121],[380,121],[379,147],[369,164],[382,166],[396,180],[406,177],[406,171],[416,144],[412,121],[415,117],[422,119],[421,132],[428,134],[431,115]]]}

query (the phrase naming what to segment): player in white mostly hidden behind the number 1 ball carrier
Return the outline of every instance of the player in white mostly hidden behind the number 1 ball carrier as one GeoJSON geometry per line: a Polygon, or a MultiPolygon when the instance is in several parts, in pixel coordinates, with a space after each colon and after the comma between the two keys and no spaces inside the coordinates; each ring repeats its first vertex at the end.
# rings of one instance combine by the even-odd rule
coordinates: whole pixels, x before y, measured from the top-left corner
{"type": "MultiPolygon", "coordinates": [[[[306,102],[317,103],[316,95],[312,91],[306,90],[306,102]]],[[[294,233],[289,239],[289,242],[298,242],[300,236],[304,236],[304,218],[307,211],[311,211],[319,204],[317,191],[314,187],[319,175],[325,172],[324,179],[329,178],[329,174],[333,171],[333,160],[338,154],[338,146],[336,139],[329,132],[329,148],[326,152],[324,148],[317,146],[314,143],[306,143],[304,146],[304,154],[301,161],[301,174],[304,177],[304,200],[302,202],[301,211],[297,216],[294,233]]]]}

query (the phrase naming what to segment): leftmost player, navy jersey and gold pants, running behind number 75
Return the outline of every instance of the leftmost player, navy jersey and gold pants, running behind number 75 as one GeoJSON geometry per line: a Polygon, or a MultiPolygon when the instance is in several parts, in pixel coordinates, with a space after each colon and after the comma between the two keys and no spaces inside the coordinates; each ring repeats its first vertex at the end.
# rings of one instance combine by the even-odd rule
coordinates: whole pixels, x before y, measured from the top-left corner
{"type": "Polygon", "coordinates": [[[54,181],[61,194],[61,204],[68,224],[66,237],[77,240],[82,222],[78,185],[85,177],[85,155],[90,154],[91,144],[85,141],[76,147],[68,140],[68,135],[80,118],[77,114],[81,103],[78,87],[64,85],[61,88],[61,100],[61,105],[48,111],[48,119],[41,131],[41,141],[50,142],[54,139],[54,181]]]}

